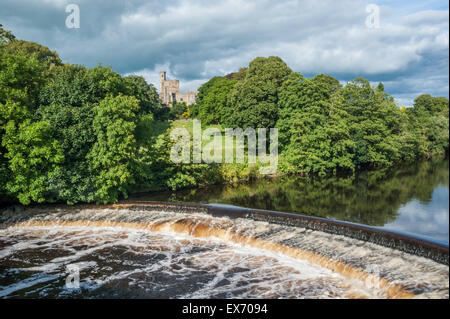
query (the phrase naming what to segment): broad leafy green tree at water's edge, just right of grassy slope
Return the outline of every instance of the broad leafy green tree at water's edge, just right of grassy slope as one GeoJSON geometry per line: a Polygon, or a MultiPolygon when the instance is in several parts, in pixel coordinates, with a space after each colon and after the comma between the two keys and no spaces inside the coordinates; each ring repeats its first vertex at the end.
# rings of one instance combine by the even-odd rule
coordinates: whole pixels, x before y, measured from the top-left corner
{"type": "Polygon", "coordinates": [[[348,114],[343,100],[330,95],[327,81],[292,73],[280,91],[280,143],[288,172],[310,175],[354,171],[348,114]]]}

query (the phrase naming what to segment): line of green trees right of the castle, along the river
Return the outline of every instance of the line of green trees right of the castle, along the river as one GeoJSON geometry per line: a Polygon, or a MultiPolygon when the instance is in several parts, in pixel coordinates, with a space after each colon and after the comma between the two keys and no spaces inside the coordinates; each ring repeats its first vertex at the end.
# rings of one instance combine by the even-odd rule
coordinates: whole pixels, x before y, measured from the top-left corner
{"type": "Polygon", "coordinates": [[[277,127],[280,168],[288,173],[388,167],[444,154],[449,144],[448,99],[421,95],[414,107],[399,108],[382,83],[305,78],[279,57],[212,78],[200,87],[191,116],[225,127],[277,127]]]}

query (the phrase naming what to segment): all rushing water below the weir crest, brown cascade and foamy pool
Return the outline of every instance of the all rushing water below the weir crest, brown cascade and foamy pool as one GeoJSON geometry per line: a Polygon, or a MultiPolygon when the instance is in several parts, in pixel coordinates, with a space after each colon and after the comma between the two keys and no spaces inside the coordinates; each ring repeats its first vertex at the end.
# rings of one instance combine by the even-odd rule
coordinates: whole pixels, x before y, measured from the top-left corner
{"type": "Polygon", "coordinates": [[[448,266],[431,259],[200,208],[129,207],[3,212],[0,297],[448,298],[448,266]]]}

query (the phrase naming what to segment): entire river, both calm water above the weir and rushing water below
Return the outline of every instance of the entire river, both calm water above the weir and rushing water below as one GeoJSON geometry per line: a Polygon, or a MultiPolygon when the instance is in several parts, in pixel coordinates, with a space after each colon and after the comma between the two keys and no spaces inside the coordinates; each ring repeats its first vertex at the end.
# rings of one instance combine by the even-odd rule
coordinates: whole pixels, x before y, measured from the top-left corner
{"type": "MultiPolygon", "coordinates": [[[[441,159],[351,178],[286,176],[129,200],[299,213],[448,245],[448,189],[441,159]]],[[[446,263],[342,234],[212,216],[204,206],[154,205],[3,210],[0,298],[448,298],[446,263]]]]}

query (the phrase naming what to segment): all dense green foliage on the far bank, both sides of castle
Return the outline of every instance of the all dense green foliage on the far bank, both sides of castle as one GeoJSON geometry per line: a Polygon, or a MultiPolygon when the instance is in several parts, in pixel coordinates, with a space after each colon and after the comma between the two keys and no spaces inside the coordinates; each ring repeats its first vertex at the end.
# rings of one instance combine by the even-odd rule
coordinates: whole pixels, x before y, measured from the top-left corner
{"type": "Polygon", "coordinates": [[[448,151],[446,98],[422,95],[399,109],[382,83],[307,79],[269,57],[212,78],[195,105],[167,108],[142,77],[63,64],[0,25],[0,199],[107,203],[257,176],[255,165],[172,163],[170,129],[192,122],[170,121],[188,117],[277,127],[283,173],[352,174],[448,151]]]}

